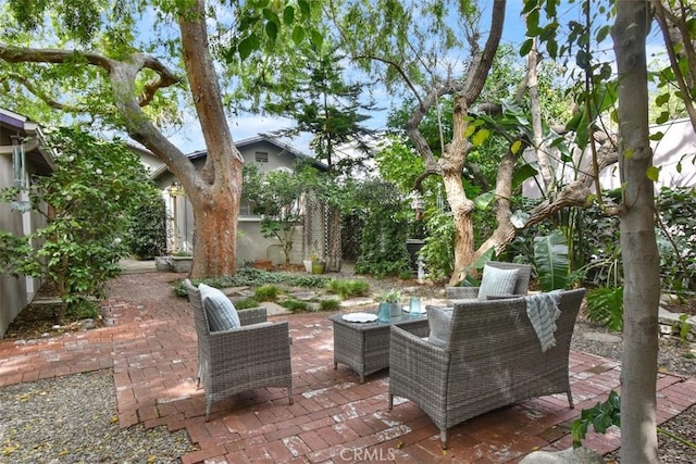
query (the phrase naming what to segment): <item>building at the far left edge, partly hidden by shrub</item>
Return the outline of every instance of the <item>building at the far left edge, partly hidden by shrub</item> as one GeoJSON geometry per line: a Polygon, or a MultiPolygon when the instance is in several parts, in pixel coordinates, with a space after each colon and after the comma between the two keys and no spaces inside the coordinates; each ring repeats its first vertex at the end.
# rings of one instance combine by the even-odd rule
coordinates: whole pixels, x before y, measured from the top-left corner
{"type": "MultiPolygon", "coordinates": [[[[53,170],[53,158],[44,146],[38,124],[0,109],[0,189],[28,187],[34,175],[48,175],[53,170]]],[[[23,200],[27,198],[20,193],[16,201],[23,200]]],[[[0,230],[25,236],[45,225],[39,214],[13,211],[9,203],[0,202],[0,230]]],[[[0,338],[20,311],[32,302],[39,286],[37,278],[0,274],[0,338]]]]}

